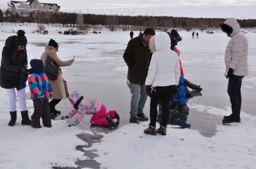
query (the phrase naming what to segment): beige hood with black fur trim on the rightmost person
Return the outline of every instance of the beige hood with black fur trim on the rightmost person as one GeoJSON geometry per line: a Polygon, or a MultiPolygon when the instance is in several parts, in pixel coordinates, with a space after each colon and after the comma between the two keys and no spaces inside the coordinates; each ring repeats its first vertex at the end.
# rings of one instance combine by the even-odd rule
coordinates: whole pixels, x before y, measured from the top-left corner
{"type": "Polygon", "coordinates": [[[240,32],[240,26],[235,18],[228,18],[224,23],[220,24],[221,30],[231,37],[237,32],[240,32]]]}

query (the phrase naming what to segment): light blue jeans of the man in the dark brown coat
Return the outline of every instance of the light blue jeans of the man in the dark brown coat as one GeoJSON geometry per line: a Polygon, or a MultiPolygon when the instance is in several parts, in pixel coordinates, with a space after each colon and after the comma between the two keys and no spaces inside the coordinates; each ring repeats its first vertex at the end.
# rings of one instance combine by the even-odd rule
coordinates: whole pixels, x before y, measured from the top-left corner
{"type": "Polygon", "coordinates": [[[137,114],[143,113],[144,105],[147,101],[146,85],[134,84],[131,85],[131,117],[136,117],[137,114]]]}

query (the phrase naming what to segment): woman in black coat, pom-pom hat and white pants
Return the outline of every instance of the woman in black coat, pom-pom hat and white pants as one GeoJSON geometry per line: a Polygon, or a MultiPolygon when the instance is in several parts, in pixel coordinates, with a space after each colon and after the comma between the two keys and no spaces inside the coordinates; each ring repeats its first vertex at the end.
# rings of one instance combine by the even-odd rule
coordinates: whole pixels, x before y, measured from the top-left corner
{"type": "Polygon", "coordinates": [[[13,126],[17,119],[16,109],[16,93],[19,96],[19,104],[21,110],[21,125],[31,125],[31,120],[28,117],[26,104],[26,83],[20,87],[21,73],[28,73],[27,70],[27,38],[25,32],[19,30],[17,36],[13,35],[7,38],[2,51],[2,59],[0,66],[0,86],[7,90],[9,95],[9,107],[11,120],[9,126],[13,126]]]}

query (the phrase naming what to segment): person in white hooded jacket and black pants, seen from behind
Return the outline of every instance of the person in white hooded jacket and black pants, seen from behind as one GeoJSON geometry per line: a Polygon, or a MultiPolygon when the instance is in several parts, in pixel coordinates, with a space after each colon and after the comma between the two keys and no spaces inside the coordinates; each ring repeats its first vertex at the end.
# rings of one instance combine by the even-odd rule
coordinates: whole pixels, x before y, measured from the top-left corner
{"type": "Polygon", "coordinates": [[[177,54],[171,49],[171,40],[166,32],[160,32],[149,41],[149,49],[153,53],[145,84],[146,93],[150,96],[150,123],[145,134],[166,135],[166,126],[170,115],[169,101],[175,85],[179,84],[180,62],[177,54]],[[151,90],[152,87],[152,90],[151,90]],[[161,100],[162,123],[156,130],[157,106],[161,100]]]}

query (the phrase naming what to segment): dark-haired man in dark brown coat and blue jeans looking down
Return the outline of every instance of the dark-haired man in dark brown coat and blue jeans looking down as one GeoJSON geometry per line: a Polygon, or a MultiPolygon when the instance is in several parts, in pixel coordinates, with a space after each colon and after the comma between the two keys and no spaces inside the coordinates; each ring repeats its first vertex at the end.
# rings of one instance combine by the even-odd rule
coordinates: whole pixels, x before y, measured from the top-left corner
{"type": "Polygon", "coordinates": [[[143,113],[143,108],[147,100],[146,77],[152,53],[148,48],[150,38],[155,35],[155,30],[147,28],[141,36],[137,36],[128,42],[124,60],[128,66],[127,79],[131,85],[131,109],[130,123],[139,123],[137,118],[148,119],[143,113]]]}

